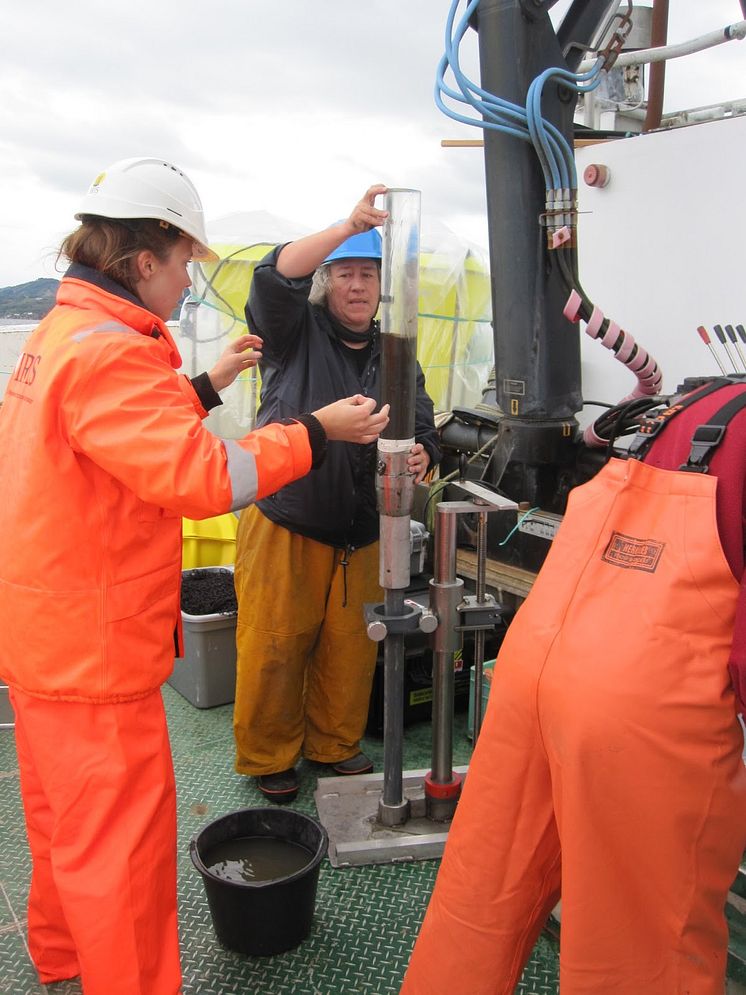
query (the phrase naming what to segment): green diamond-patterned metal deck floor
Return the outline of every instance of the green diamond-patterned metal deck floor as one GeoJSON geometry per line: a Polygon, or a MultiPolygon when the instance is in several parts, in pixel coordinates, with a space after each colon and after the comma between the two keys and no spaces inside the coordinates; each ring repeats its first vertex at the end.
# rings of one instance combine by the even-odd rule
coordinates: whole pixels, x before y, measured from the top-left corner
{"type": "MultiPolygon", "coordinates": [[[[189,840],[226,812],[264,804],[232,767],[231,706],[199,710],[166,685],[179,816],[179,913],[184,995],[396,995],[437,870],[437,861],[345,868],[321,867],[311,934],[296,950],[244,958],[220,947],[189,840]]],[[[404,767],[430,761],[429,723],[405,731],[404,767]]],[[[365,741],[381,769],[380,739],[365,741]]],[[[466,716],[456,716],[454,764],[468,763],[466,716]]],[[[294,807],[316,814],[313,791],[321,768],[302,765],[294,807]]],[[[23,828],[13,734],[0,731],[0,995],[80,995],[75,981],[39,984],[26,946],[29,854],[23,828]]],[[[743,989],[732,988],[735,992],[743,989]]],[[[517,989],[556,995],[557,949],[542,936],[517,989]]],[[[663,995],[663,993],[662,993],[663,995]]]]}

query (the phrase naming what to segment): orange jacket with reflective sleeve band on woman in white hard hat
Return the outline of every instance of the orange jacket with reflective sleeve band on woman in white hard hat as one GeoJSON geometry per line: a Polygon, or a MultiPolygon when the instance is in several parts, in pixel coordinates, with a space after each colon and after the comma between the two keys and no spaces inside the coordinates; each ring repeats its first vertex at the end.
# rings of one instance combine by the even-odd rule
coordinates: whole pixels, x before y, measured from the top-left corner
{"type": "MultiPolygon", "coordinates": [[[[74,274],[74,275],[73,275],[74,274]]],[[[0,409],[0,674],[41,698],[123,702],[171,672],[181,516],[307,473],[308,430],[225,441],[159,318],[85,267],[28,339],[0,409]]]]}

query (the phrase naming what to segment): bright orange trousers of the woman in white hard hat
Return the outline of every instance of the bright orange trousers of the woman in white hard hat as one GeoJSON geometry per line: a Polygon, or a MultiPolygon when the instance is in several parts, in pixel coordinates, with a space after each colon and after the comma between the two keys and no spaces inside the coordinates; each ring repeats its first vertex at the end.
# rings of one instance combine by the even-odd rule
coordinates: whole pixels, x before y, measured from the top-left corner
{"type": "Polygon", "coordinates": [[[176,795],[160,691],[118,704],[10,692],[42,984],[178,995],[176,795]]]}

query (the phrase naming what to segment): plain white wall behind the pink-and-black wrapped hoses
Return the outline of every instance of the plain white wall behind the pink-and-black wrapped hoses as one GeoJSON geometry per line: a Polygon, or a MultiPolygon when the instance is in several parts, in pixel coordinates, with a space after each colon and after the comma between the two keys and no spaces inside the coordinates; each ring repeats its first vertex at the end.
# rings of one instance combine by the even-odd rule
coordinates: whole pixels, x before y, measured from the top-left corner
{"type": "MultiPolygon", "coordinates": [[[[666,392],[719,372],[698,325],[730,370],[712,326],[746,324],[746,116],[588,146],[576,163],[580,279],[591,300],[656,358],[666,392]],[[606,187],[583,181],[590,163],[609,168],[606,187]]],[[[621,400],[634,375],[585,331],[581,341],[584,397],[621,400]]],[[[598,413],[586,408],[582,423],[598,413]]]]}

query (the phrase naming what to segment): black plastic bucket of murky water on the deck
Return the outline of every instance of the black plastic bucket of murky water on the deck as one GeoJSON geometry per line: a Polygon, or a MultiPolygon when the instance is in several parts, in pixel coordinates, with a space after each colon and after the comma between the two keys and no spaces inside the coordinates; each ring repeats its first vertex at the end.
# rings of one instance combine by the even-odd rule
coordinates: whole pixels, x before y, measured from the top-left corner
{"type": "Polygon", "coordinates": [[[305,940],[328,844],[324,827],[293,809],[244,808],[205,826],[189,844],[189,855],[205,883],[212,923],[223,946],[240,954],[269,956],[305,940]],[[285,877],[240,882],[218,877],[205,866],[203,858],[213,847],[255,836],[303,847],[308,863],[285,877]]]}

